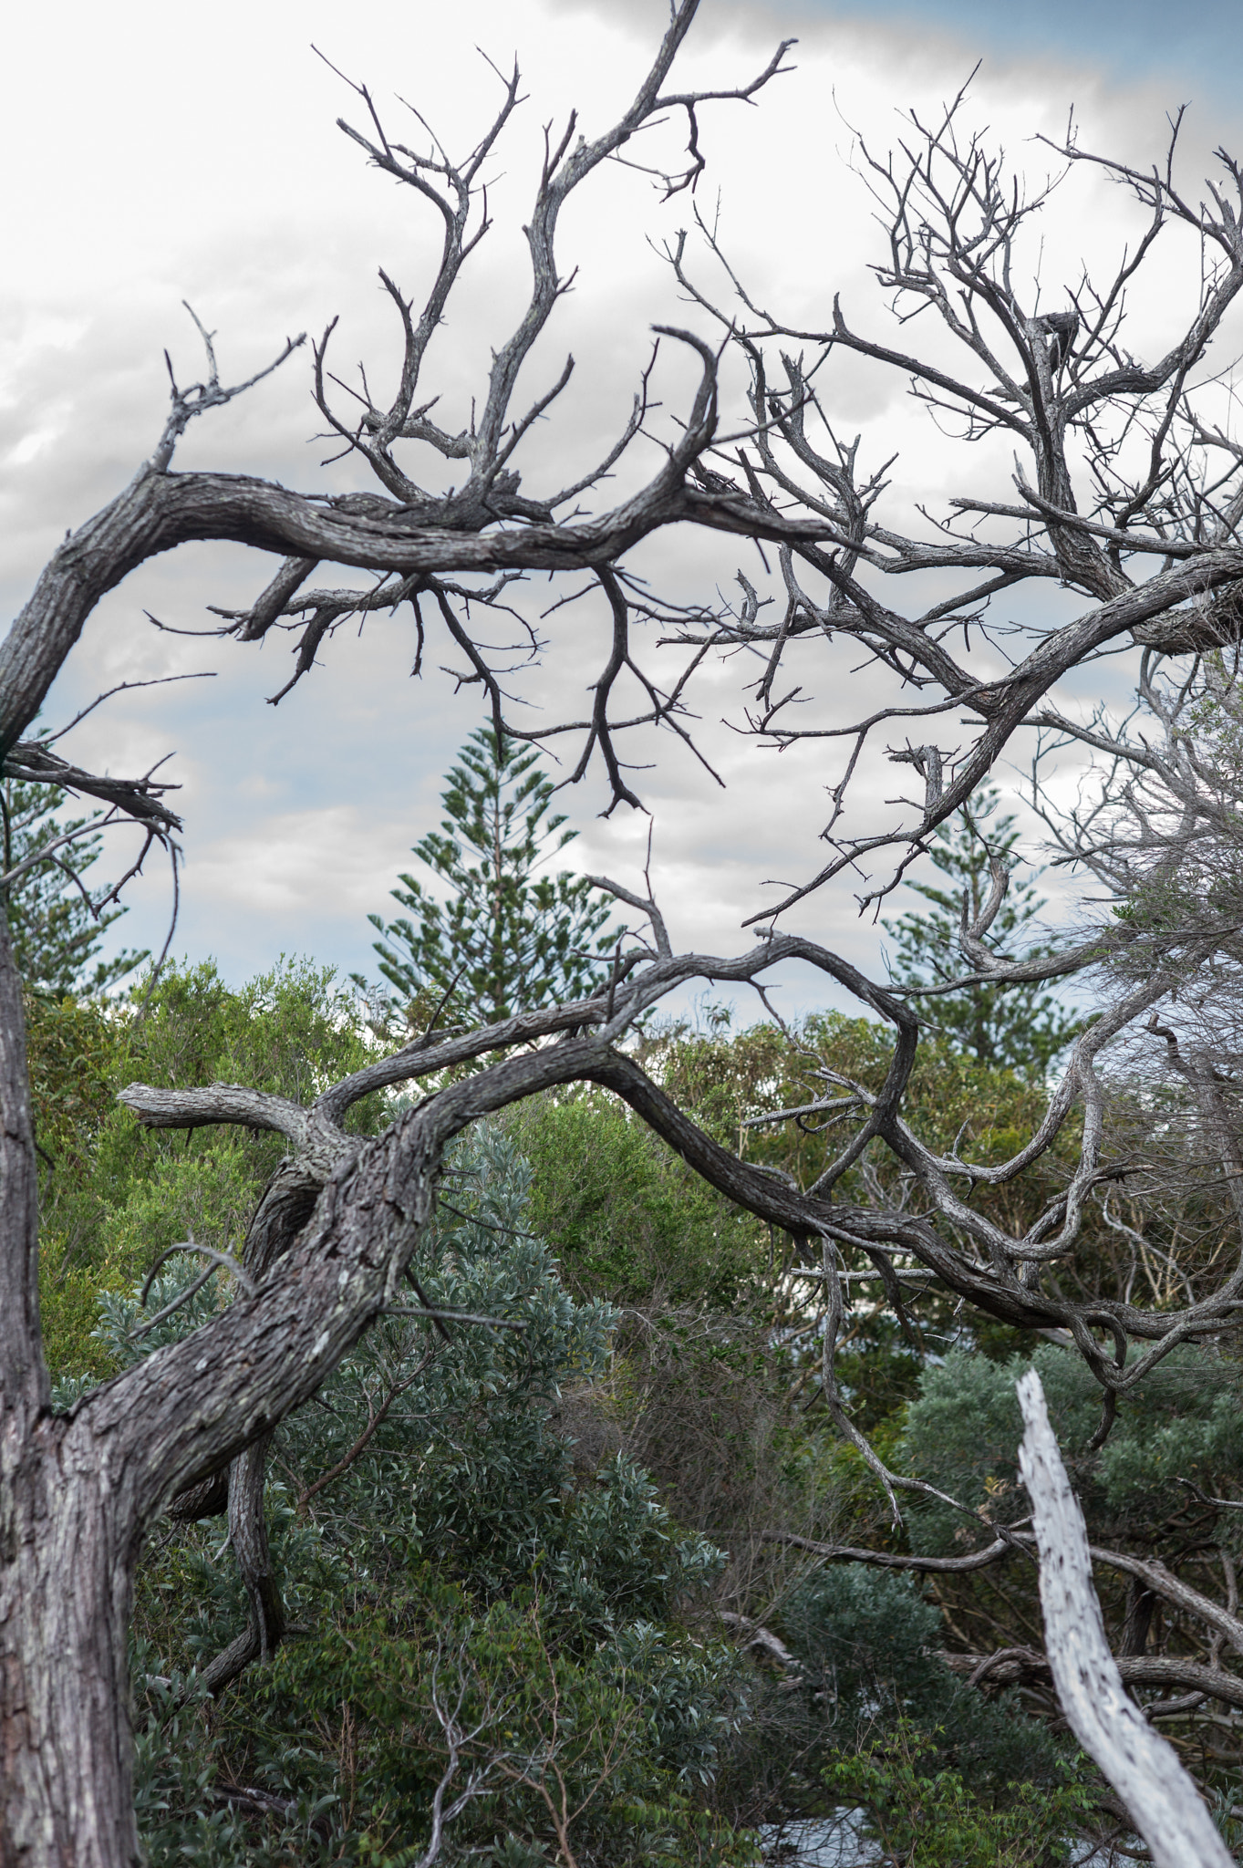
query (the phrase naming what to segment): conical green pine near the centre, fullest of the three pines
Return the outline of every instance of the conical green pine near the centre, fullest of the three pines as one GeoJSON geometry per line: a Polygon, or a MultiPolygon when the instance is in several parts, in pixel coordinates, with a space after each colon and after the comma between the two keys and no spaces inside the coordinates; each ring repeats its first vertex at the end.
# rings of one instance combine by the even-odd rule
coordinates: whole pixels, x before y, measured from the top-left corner
{"type": "Polygon", "coordinates": [[[444,822],[412,852],[448,899],[399,878],[392,897],[407,915],[368,915],[383,936],[373,943],[381,973],[407,1007],[429,1012],[450,996],[448,1014],[472,1024],[580,998],[605,975],[616,932],[586,878],[534,874],[577,837],[562,829],[564,814],[549,814],[552,783],[539,755],[513,740],[500,745],[482,727],[457,758],[440,794],[444,822]]]}

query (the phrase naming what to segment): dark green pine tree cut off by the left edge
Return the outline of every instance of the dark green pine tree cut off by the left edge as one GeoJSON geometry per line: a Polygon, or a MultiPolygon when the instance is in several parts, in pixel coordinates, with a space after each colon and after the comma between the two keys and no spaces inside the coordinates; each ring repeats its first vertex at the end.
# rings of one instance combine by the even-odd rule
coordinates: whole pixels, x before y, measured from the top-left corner
{"type": "MultiPolygon", "coordinates": [[[[95,816],[62,818],[65,792],[54,785],[26,785],[4,779],[0,785],[0,874],[17,869],[54,837],[69,829],[84,829],[95,816]]],[[[82,876],[99,859],[99,833],[75,839],[58,854],[65,865],[82,876]]],[[[125,908],[105,910],[108,889],[91,895],[78,887],[67,869],[54,861],[37,863],[7,887],[0,900],[9,923],[9,940],[17,969],[30,992],[41,998],[88,998],[106,992],[125,979],[144,953],[119,953],[114,960],[97,960],[103,938],[125,908]],[[93,962],[93,966],[91,966],[93,962]]]]}

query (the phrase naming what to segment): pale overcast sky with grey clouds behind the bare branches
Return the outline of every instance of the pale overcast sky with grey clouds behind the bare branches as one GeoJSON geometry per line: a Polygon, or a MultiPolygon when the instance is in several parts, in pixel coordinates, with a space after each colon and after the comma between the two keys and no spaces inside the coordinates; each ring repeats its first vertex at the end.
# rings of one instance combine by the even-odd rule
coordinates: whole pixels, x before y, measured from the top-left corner
{"type": "MultiPolygon", "coordinates": [[[[252,372],[287,333],[317,333],[338,314],[338,366],[364,359],[381,381],[392,372],[396,334],[375,269],[418,293],[437,230],[334,127],[338,114],[356,114],[356,99],[312,43],[386,108],[399,112],[394,93],[407,97],[457,149],[474,140],[496,92],[476,47],[500,65],[515,52],[523,64],[530,101],[496,163],[496,230],[472,262],[426,390],[463,415],[483,381],[487,346],[521,304],[519,228],[541,123],[573,105],[588,134],[599,129],[633,93],[664,15],[663,0],[478,0],[457,9],[371,0],[353,17],[327,0],[218,0],[205,13],[146,0],[22,9],[6,28],[0,114],[0,585],[9,613],[56,538],[151,450],[166,400],[164,347],[183,379],[198,374],[183,299],[218,333],[228,375],[252,372]]],[[[834,291],[860,314],[875,306],[866,271],[875,228],[845,161],[853,129],[885,148],[901,129],[900,108],[933,108],[980,60],[972,121],[991,125],[1034,177],[1049,159],[1032,138],[1064,131],[1071,105],[1084,144],[1131,161],[1157,155],[1165,112],[1189,105],[1189,183],[1215,144],[1243,146],[1237,6],[1224,0],[1185,6],[1176,19],[1148,0],[1045,0],[1040,9],[705,0],[683,82],[737,84],[778,37],[799,37],[797,71],[756,108],[704,112],[700,202],[719,213],[743,276],[791,321],[823,325],[834,291]]],[[[1116,219],[1101,187],[1068,196],[1047,230],[1049,284],[1056,288],[1058,267],[1069,276],[1109,243],[1116,219]]],[[[532,448],[528,486],[545,473],[564,484],[607,448],[646,361],[648,327],[691,316],[655,252],[685,220],[685,196],[661,207],[642,176],[618,170],[566,215],[560,258],[564,269],[579,263],[579,282],[530,381],[551,379],[566,349],[579,370],[532,448]]],[[[1140,306],[1153,340],[1176,308],[1176,282],[1168,291],[1168,303],[1140,306]]],[[[306,491],[362,484],[355,469],[319,465],[325,446],[312,439],[321,424],[302,359],[200,422],[177,465],[269,474],[306,491]]],[[[685,366],[668,355],[661,368],[657,387],[677,407],[685,366]]],[[[845,364],[832,383],[834,413],[862,430],[875,461],[901,450],[898,497],[935,499],[950,469],[900,390],[845,364]]],[[[649,471],[651,460],[635,471],[649,471]]],[[[646,547],[636,568],[694,598],[728,587],[741,562],[737,545],[679,534],[646,547]]],[[[754,555],[747,564],[756,570],[754,555]]],[[[265,697],[287,678],[287,639],[258,650],[159,633],[146,620],[153,613],[179,630],[205,628],[205,605],[244,605],[271,570],[258,553],[215,545],[151,562],[101,605],[45,714],[58,727],[114,682],[213,671],[211,680],[118,697],[63,749],[112,771],[174,755],[187,826],[175,951],[215,955],[231,981],[282,951],[370,969],[366,913],[386,908],[411,844],[439,818],[442,773],[480,721],[476,691],[455,695],[437,672],[454,659],[446,644],[433,644],[426,680],[409,680],[405,615],[373,620],[360,637],[342,631],[278,708],[265,697]]],[[[586,613],[582,622],[566,616],[551,663],[523,689],[528,719],[538,708],[584,706],[592,665],[582,639],[594,624],[586,613]]],[[[847,671],[829,671],[840,687],[829,699],[844,719],[870,712],[873,699],[872,678],[847,671]]],[[[1122,693],[1125,671],[1109,680],[1122,693]]],[[[769,878],[804,878],[823,863],[817,831],[836,775],[823,749],[775,760],[739,736],[739,702],[735,667],[705,678],[702,734],[724,790],[672,740],[644,749],[661,762],[640,775],[674,938],[719,953],[739,943],[743,917],[771,899],[769,878]]],[[[898,788],[892,771],[866,773],[860,822],[887,783],[898,788]]],[[[582,831],[575,861],[635,882],[648,818],[620,811],[601,820],[601,803],[595,783],[566,794],[582,831]]],[[[131,833],[114,835],[110,867],[131,833]]],[[[155,867],[131,900],[118,932],[159,945],[166,876],[155,867]]],[[[877,964],[875,932],[855,919],[849,884],[817,897],[801,925],[877,964]]],[[[804,988],[791,983],[788,1003],[797,1001],[806,1003],[804,988]]]]}

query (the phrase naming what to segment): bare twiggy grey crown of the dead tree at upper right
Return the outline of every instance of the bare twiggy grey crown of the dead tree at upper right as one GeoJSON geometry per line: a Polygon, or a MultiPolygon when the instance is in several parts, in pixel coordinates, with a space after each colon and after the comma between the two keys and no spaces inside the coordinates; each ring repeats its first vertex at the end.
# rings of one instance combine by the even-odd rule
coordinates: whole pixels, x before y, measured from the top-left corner
{"type": "MultiPolygon", "coordinates": [[[[929,123],[913,118],[913,138],[900,151],[877,159],[862,140],[855,151],[888,235],[875,271],[901,314],[901,340],[928,323],[913,325],[915,308],[926,310],[946,338],[935,351],[900,349],[853,329],[838,299],[819,329],[789,327],[735,273],[730,273],[730,303],[720,306],[696,284],[685,237],[670,250],[679,284],[719,319],[752,375],[754,452],[739,480],[775,508],[816,510],[832,525],[829,544],[789,542],[782,559],[784,613],[776,611],[771,624],[750,603],[679,637],[752,650],[765,644],[765,652],[771,644],[748,714],[750,730],[776,745],[834,738],[851,745],[844,775],[831,788],[832,816],[823,833],[832,859],[788,893],[776,912],[877,850],[892,848],[894,861],[903,865],[913,841],[943,824],[987,777],[1000,747],[1040,706],[1045,678],[1058,678],[1053,669],[1060,663],[1066,671],[1092,654],[1086,639],[1097,630],[1109,637],[1127,633],[1166,652],[1237,641],[1243,454],[1234,441],[1219,443],[1217,411],[1204,417],[1189,385],[1243,290],[1239,166],[1219,151],[1222,177],[1217,185],[1209,181],[1208,198],[1193,204],[1174,181],[1181,116],[1172,125],[1165,166],[1146,172],[1090,155],[1071,138],[1058,151],[1068,168],[1092,163],[1105,170],[1144,211],[1148,228],[1137,247],[1124,248],[1109,282],[1084,278],[1069,293],[1073,308],[1040,314],[1025,301],[1021,284],[1030,278],[1025,241],[1054,183],[1027,194],[1023,179],[1006,172],[1002,153],[965,118],[963,92],[929,123]],[[1125,293],[1150,262],[1153,243],[1180,226],[1211,254],[1204,290],[1165,351],[1140,362],[1116,342],[1125,293]],[[804,346],[817,349],[814,368],[804,361],[804,346]],[[956,497],[948,517],[922,532],[909,531],[905,512],[881,519],[887,467],[868,473],[860,465],[860,439],[847,443],[834,432],[814,389],[816,372],[844,351],[898,372],[916,400],[950,417],[959,439],[1004,437],[1017,450],[1017,501],[1010,488],[1002,499],[956,497]],[[1120,437],[1137,433],[1144,443],[1131,458],[1120,437]],[[1219,445],[1228,461],[1221,478],[1208,465],[1208,450],[1219,445]],[[1211,495],[1206,482],[1213,484],[1211,495]],[[1208,570],[1222,549],[1230,562],[1219,560],[1221,585],[1209,573],[1211,585],[1196,588],[1196,570],[1208,570]],[[1150,575],[1152,564],[1159,566],[1157,575],[1150,575]],[[1161,579],[1170,570],[1180,583],[1181,573],[1193,575],[1180,596],[1170,587],[1172,601],[1163,603],[1161,579]],[[799,581],[804,572],[812,573],[810,590],[799,581]],[[864,572],[872,575],[864,579],[864,572]],[[946,594],[937,579],[928,609],[900,609],[879,579],[894,579],[896,588],[898,579],[918,572],[948,573],[956,588],[946,594]],[[980,631],[987,639],[995,598],[1017,585],[1038,588],[1040,579],[1075,590],[1088,607],[1064,630],[1041,631],[1028,654],[1006,656],[1012,672],[997,680],[993,669],[972,663],[971,635],[980,631]],[[1217,594],[1206,601],[1209,588],[1217,594]],[[1150,601],[1157,603],[1152,613],[1150,601]],[[963,656],[950,646],[957,628],[963,656]],[[859,641],[879,667],[898,676],[892,700],[877,704],[870,689],[868,717],[847,729],[836,719],[812,723],[806,676],[782,682],[784,695],[775,687],[782,659],[789,665],[799,643],[816,644],[825,631],[859,641]],[[931,743],[950,712],[946,700],[956,702],[950,717],[961,710],[982,719],[972,740],[952,753],[931,743]],[[859,755],[885,723],[926,738],[918,751],[929,773],[944,773],[944,783],[926,781],[926,798],[911,801],[915,816],[901,824],[866,837],[834,837],[859,755]]],[[[728,267],[713,237],[709,247],[728,267]]],[[[720,489],[728,484],[722,476],[713,480],[720,489]]],[[[907,742],[905,751],[887,751],[905,760],[913,747],[907,742]]],[[[873,889],[883,893],[890,885],[892,876],[881,876],[873,889]]],[[[771,913],[773,908],[761,910],[754,919],[771,913]]]]}

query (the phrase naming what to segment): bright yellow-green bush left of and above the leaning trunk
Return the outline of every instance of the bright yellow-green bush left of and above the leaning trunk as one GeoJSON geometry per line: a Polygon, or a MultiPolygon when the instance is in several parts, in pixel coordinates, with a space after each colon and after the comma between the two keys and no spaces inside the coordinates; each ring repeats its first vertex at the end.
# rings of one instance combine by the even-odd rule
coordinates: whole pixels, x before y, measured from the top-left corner
{"type": "MultiPolygon", "coordinates": [[[[39,1306],[54,1375],[106,1375],[95,1293],[125,1291],[159,1252],[196,1238],[235,1252],[284,1153],[278,1136],[144,1130],[116,1102],[125,1083],[250,1083],[314,1100],[368,1063],[373,1046],[332,968],[282,960],[239,992],[215,964],[170,966],[119,1003],[28,1003],[41,1151],[39,1306]]],[[[351,1111],[358,1132],[379,1098],[351,1111]]]]}

